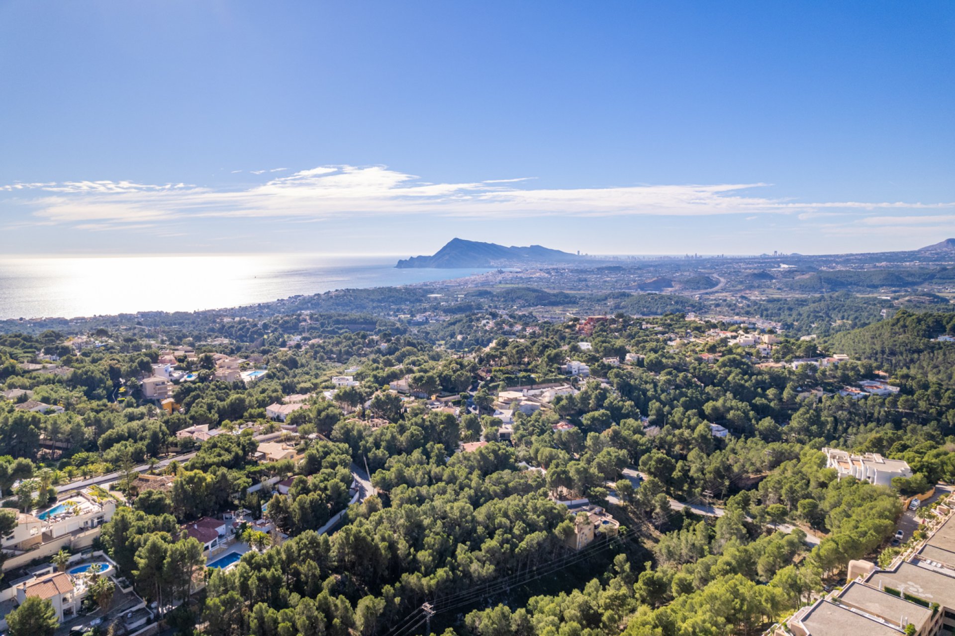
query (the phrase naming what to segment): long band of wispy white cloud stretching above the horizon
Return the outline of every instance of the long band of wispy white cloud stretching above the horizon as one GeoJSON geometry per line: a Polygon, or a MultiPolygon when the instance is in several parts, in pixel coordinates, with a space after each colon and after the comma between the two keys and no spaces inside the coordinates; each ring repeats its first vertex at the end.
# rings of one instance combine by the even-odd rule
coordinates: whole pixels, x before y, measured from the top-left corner
{"type": "MultiPolygon", "coordinates": [[[[130,181],[11,184],[0,189],[20,192],[21,204],[32,207],[38,222],[73,223],[87,229],[198,217],[322,220],[373,215],[507,218],[800,213],[799,218],[809,219],[839,214],[837,211],[858,215],[881,209],[955,208],[955,203],[900,201],[799,203],[754,195],[754,189],[766,185],[762,183],[557,189],[523,187],[521,182],[526,179],[430,183],[385,166],[319,166],[271,177],[265,183],[241,190],[130,181]],[[37,195],[22,198],[23,191],[30,190],[37,195]]],[[[880,217],[869,217],[869,222],[873,218],[880,217]]]]}

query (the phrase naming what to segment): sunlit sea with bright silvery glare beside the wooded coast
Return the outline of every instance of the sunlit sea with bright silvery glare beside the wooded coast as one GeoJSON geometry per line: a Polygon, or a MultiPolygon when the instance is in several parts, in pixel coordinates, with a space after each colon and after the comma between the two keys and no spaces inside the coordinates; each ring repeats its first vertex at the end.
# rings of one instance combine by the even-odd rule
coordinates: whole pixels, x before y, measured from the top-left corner
{"type": "Polygon", "coordinates": [[[396,269],[399,256],[0,257],[0,319],[198,311],[488,269],[396,269]]]}

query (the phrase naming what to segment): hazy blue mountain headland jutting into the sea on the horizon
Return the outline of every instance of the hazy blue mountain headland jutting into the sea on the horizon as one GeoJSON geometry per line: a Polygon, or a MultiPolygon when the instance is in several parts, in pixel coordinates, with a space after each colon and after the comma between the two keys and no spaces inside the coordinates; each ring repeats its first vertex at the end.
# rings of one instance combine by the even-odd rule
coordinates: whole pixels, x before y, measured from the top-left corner
{"type": "Polygon", "coordinates": [[[526,265],[561,265],[584,260],[581,256],[551,250],[540,245],[505,247],[497,243],[453,238],[434,256],[412,256],[399,260],[395,267],[517,267],[526,265]]]}

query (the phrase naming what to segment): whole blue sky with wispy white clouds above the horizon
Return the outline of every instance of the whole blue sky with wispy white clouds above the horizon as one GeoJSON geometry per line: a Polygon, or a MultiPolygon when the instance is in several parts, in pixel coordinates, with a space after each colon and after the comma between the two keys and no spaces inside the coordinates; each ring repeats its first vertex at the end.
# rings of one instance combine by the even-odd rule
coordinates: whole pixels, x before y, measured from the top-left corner
{"type": "Polygon", "coordinates": [[[0,3],[0,253],[955,236],[944,2],[0,3]]]}

